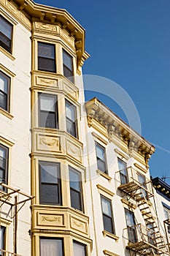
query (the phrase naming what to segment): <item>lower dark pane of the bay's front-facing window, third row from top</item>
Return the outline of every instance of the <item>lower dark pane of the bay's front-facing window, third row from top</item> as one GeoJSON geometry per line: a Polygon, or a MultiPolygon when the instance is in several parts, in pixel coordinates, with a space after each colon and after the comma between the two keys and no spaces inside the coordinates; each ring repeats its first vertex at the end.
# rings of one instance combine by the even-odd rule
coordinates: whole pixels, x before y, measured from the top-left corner
{"type": "Polygon", "coordinates": [[[60,203],[58,194],[58,185],[42,184],[41,203],[58,204],[60,203]]]}

